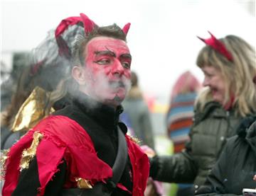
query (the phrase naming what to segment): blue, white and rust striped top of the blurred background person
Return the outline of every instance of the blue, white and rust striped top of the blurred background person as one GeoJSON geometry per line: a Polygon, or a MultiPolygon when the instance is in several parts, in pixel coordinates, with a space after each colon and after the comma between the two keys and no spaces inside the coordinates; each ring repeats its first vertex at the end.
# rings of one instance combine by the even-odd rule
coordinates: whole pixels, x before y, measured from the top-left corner
{"type": "Polygon", "coordinates": [[[166,122],[168,136],[174,143],[174,153],[181,151],[189,139],[188,132],[193,123],[193,103],[196,95],[196,93],[178,94],[171,100],[166,122]]]}

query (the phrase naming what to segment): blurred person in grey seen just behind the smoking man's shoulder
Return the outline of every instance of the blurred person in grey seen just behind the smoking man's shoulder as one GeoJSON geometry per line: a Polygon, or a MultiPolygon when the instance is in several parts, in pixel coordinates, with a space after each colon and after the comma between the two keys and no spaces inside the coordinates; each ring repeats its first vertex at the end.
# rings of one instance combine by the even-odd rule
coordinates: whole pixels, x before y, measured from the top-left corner
{"type": "Polygon", "coordinates": [[[143,98],[142,90],[139,88],[139,78],[134,71],[132,71],[131,81],[132,88],[122,103],[124,113],[122,113],[121,119],[131,129],[134,137],[141,140],[142,145],[154,149],[154,132],[149,108],[143,98]]]}

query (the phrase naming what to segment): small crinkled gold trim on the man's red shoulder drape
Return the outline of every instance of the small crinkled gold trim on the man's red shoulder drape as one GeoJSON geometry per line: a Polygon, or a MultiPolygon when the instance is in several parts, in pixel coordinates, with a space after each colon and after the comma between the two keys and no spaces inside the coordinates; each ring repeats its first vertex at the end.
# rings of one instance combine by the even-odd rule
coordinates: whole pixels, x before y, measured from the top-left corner
{"type": "Polygon", "coordinates": [[[34,132],[33,142],[31,146],[28,149],[24,149],[22,152],[21,163],[20,163],[21,171],[25,168],[28,168],[32,158],[36,155],[37,146],[42,138],[43,138],[43,134],[41,134],[40,132],[34,132]]]}

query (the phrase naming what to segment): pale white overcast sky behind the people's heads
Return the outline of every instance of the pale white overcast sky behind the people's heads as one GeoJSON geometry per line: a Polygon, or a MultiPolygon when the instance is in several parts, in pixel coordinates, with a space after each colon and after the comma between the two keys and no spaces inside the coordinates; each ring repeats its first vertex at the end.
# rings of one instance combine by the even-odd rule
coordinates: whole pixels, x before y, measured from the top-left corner
{"type": "MultiPolygon", "coordinates": [[[[63,18],[85,13],[98,25],[132,23],[127,41],[132,69],[139,74],[144,91],[169,97],[171,86],[183,71],[191,70],[202,81],[196,67],[198,51],[204,46],[196,38],[239,35],[256,43],[256,19],[232,0],[0,0],[1,57],[30,51],[50,28],[63,18]]],[[[247,1],[245,1],[246,4],[247,1]]]]}

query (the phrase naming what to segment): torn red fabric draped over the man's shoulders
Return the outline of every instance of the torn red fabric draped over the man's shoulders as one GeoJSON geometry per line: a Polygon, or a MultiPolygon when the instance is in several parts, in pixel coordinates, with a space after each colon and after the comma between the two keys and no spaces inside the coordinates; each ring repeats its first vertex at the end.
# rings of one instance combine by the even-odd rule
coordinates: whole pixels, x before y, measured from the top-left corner
{"type": "MultiPolygon", "coordinates": [[[[40,194],[43,195],[47,183],[58,170],[64,157],[68,164],[68,182],[65,188],[75,185],[75,177],[85,178],[95,183],[112,177],[112,168],[97,157],[92,140],[80,125],[65,116],[50,116],[42,120],[36,127],[22,137],[9,152],[6,160],[6,178],[3,196],[11,195],[18,183],[19,163],[23,149],[31,146],[33,133],[43,134],[36,151],[38,175],[41,183],[40,194]],[[88,169],[90,168],[90,169],[88,169]]],[[[149,160],[142,150],[127,139],[128,154],[133,169],[133,195],[143,195],[146,179],[149,176],[149,160]]],[[[122,188],[122,185],[120,186],[122,188]]],[[[123,188],[122,188],[123,189],[123,188]]]]}

